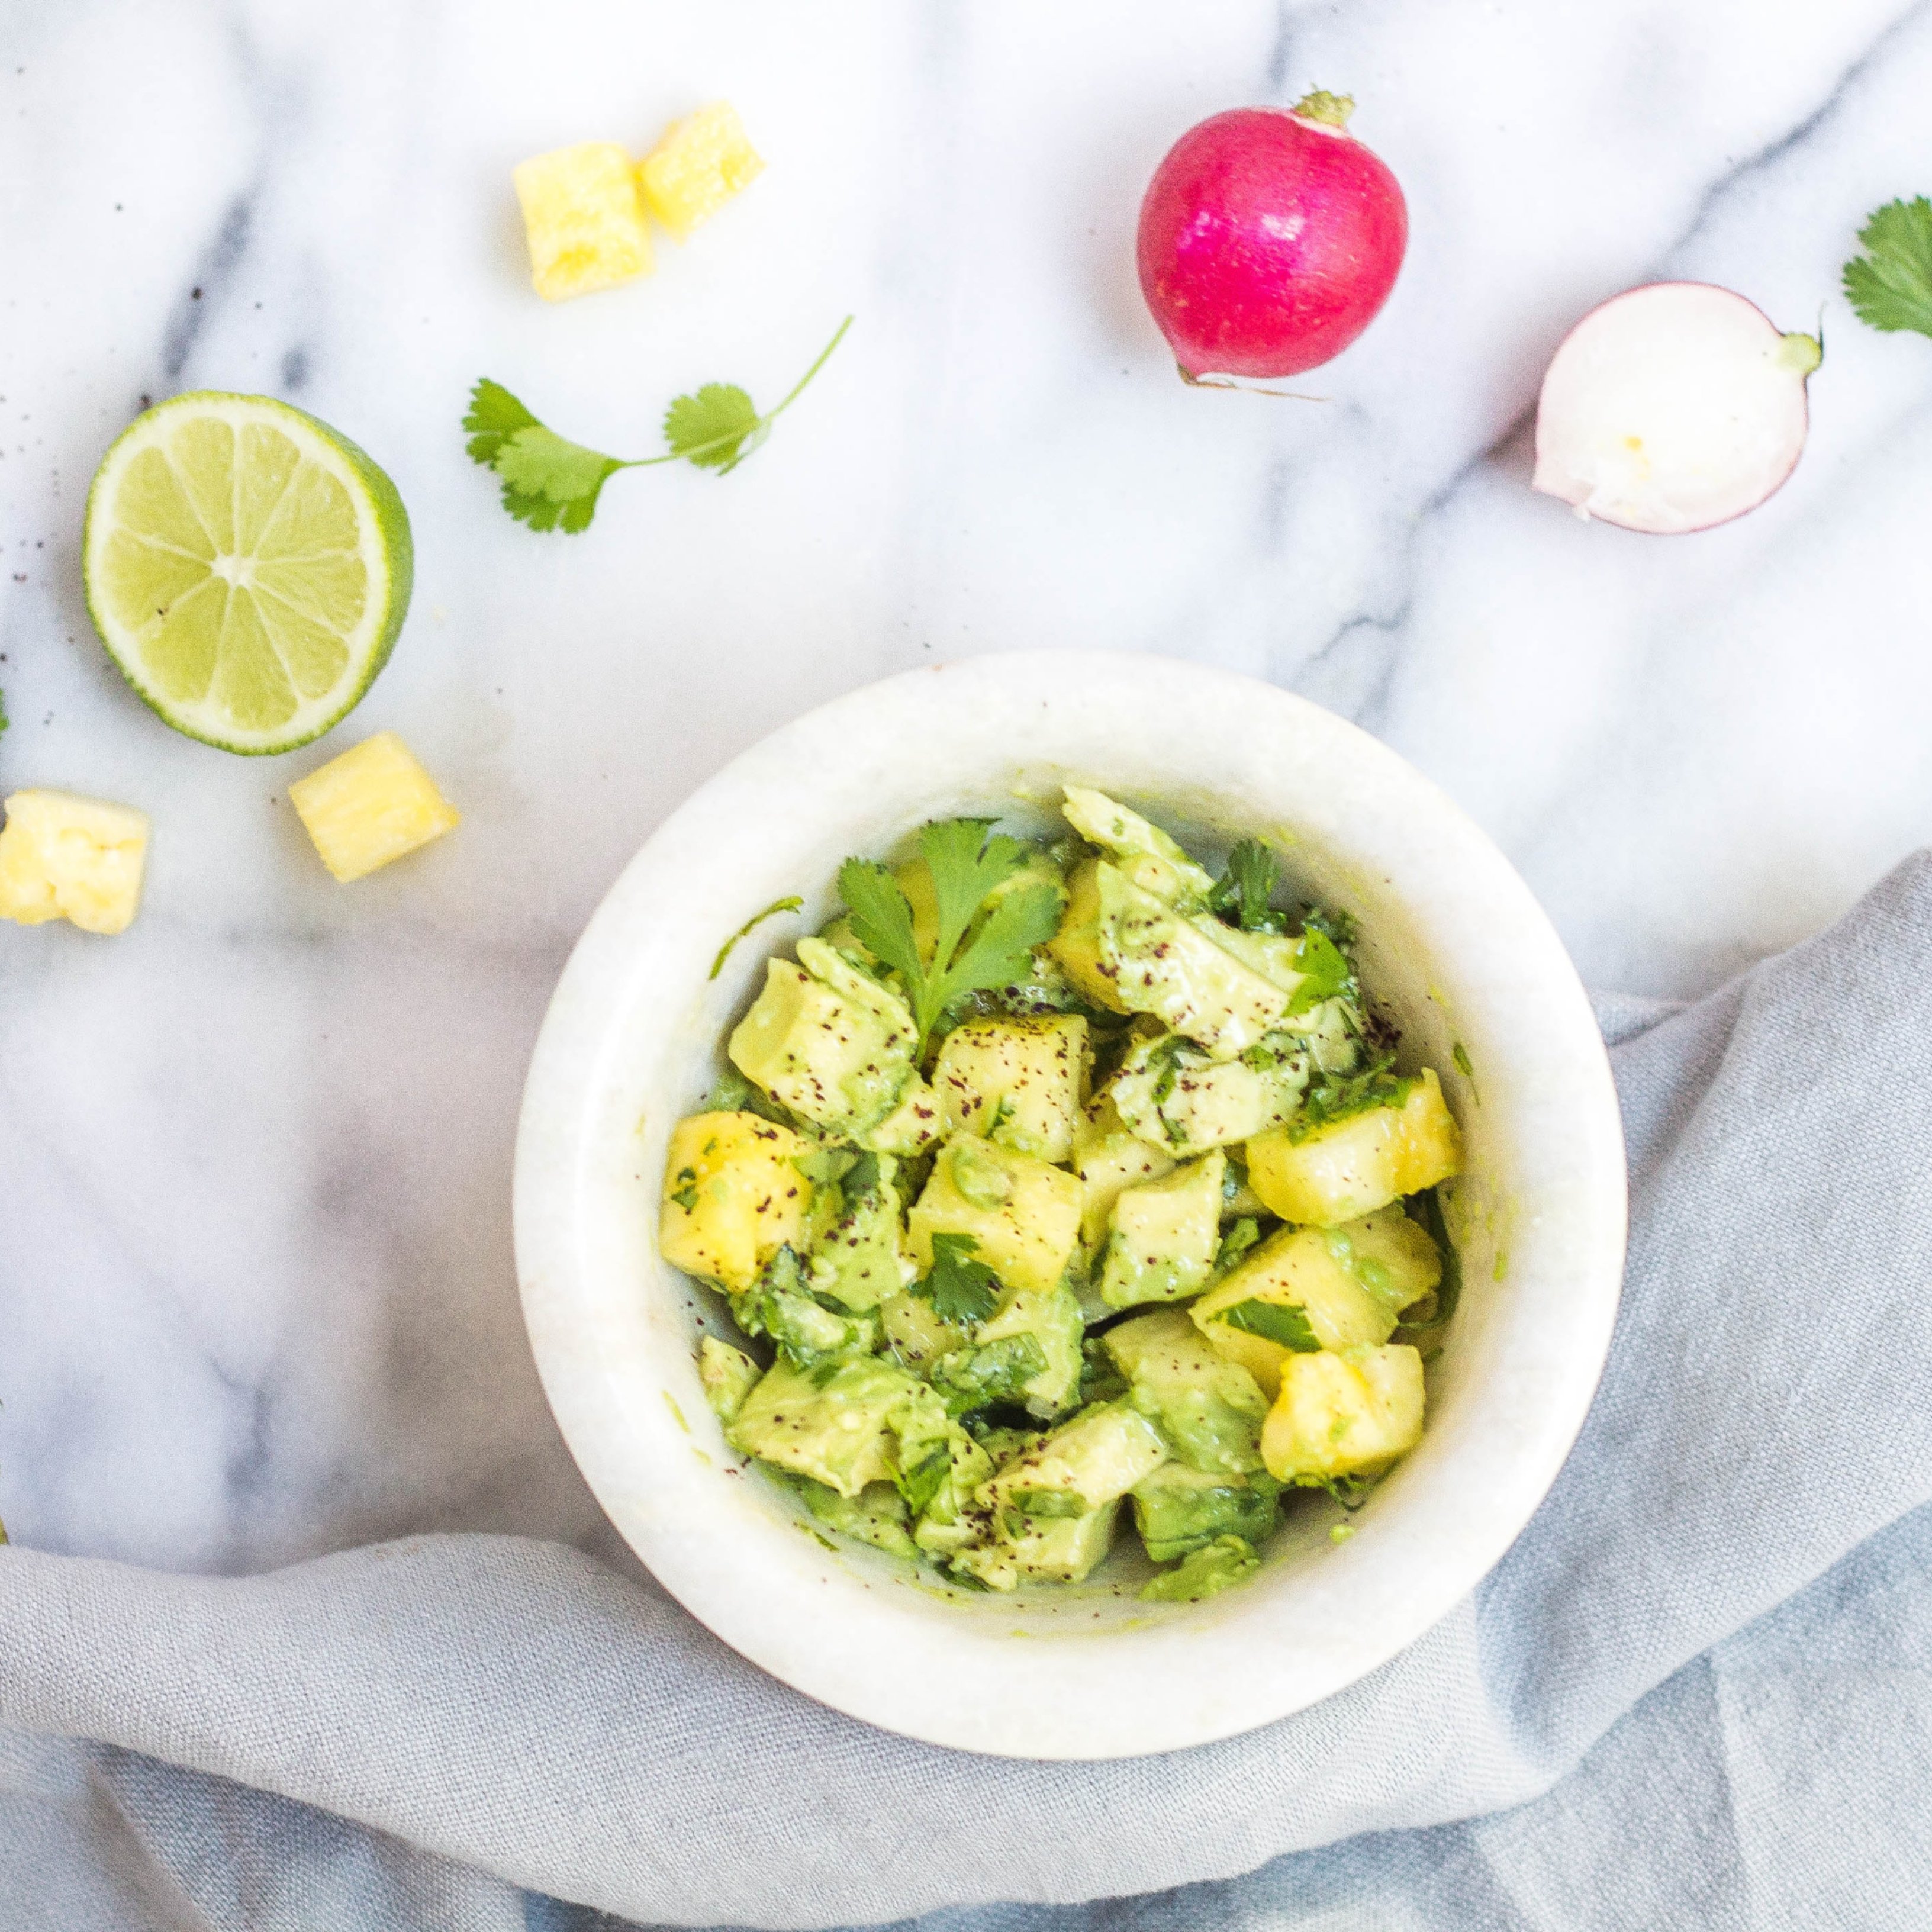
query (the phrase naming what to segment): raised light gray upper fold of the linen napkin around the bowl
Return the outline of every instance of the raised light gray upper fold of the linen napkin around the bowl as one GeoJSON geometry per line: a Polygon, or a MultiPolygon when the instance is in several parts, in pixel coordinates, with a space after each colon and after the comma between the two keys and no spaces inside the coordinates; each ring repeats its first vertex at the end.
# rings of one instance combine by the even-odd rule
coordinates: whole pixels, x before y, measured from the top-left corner
{"type": "MultiPolygon", "coordinates": [[[[373,1886],[415,1845],[657,1924],[837,1926],[1219,1880],[1358,1833],[1405,1832],[1393,1843],[1414,1847],[1430,1833],[1412,1828],[1524,1804],[1689,1660],[1932,1499],[1932,1327],[1920,1314],[1932,1283],[1932,856],[1696,1007],[1605,1012],[1605,1032],[1623,1037],[1613,1059],[1633,1244],[1582,1439],[1474,1598],[1298,1718],[1099,1766],[935,1750],[796,1696],[659,1592],[576,1551],[483,1536],[238,1580],[0,1551],[0,1718],[168,1760],[100,1754],[106,1781],[68,1797],[85,1806],[110,1793],[128,1857],[191,1874],[182,1924],[396,1924],[404,1911],[421,1926],[514,1922],[510,1893],[440,1861],[410,1866],[383,1907],[357,1889],[357,1874],[373,1886]],[[338,1917],[292,1915],[303,1868],[342,1901],[338,1917]],[[236,1874],[270,1870],[276,1897],[243,1897],[236,1874]]],[[[1889,1625],[1870,1605],[1882,1580],[1928,1569],[1932,1530],[1915,1536],[1915,1524],[1837,1573],[1845,1602],[1880,1629],[1889,1625]]],[[[1899,1584],[1897,1600],[1918,1598],[1899,1584]]],[[[1812,1594],[1781,1611],[1770,1654],[1820,1615],[1812,1594]]],[[[1922,1667],[1917,1652],[1911,1667],[1922,1667]]],[[[1667,1739],[1669,1710],[1648,1698],[1619,1737],[1656,1731],[1663,1712],[1656,1735],[1667,1739]]],[[[1795,1700],[1785,1733],[1803,1735],[1814,1716],[1795,1700]]],[[[1660,1768],[1683,1770],[1658,1750],[1660,1768]]],[[[29,1766],[12,1789],[56,1803],[64,1776],[29,1766]]],[[[1882,1808],[1889,1774],[1872,1766],[1868,1781],[1882,1808]]],[[[1627,1779],[1638,1799],[1644,1787],[1640,1770],[1627,1779]]],[[[1689,1772],[1679,1789],[1690,1791],[1689,1772]]],[[[1577,1801],[1584,1812],[1588,1799],[1577,1801]]],[[[1615,1864],[1619,1814],[1602,1791],[1596,1801],[1577,1876],[1592,1857],[1615,1864]]],[[[1551,1816],[1555,1841],[1575,1816],[1551,1816]]],[[[1673,1816],[1667,1795],[1662,1816],[1673,1816]]],[[[1723,1874],[1694,1861],[1721,1862],[1721,1833],[1671,1847],[1658,1832],[1654,1855],[1692,1861],[1687,1895],[1718,1897],[1723,1874]]],[[[1298,1870],[1320,1888],[1389,1843],[1343,1845],[1325,1868],[1289,1859],[1273,1874],[1298,1870]]],[[[14,1864],[0,1857],[0,1872],[14,1864]]],[[[1424,1868],[1439,1880],[1426,1857],[1424,1868]]],[[[1175,1909],[1192,1913],[1190,1897],[1217,1899],[1215,1917],[1240,1907],[1233,1917],[1341,1922],[1291,1911],[1269,1874],[1182,1893],[1175,1909]]],[[[1376,1922],[1437,1922],[1420,1897],[1387,1893],[1376,1922]]],[[[1464,1899],[1459,1922],[1675,1922],[1602,1917],[1598,1903],[1501,1901],[1492,1915],[1464,1899]]],[[[543,1907],[529,1911],[535,1924],[543,1907]]],[[[1134,1918],[1157,1922],[1159,1901],[1134,1918]]]]}

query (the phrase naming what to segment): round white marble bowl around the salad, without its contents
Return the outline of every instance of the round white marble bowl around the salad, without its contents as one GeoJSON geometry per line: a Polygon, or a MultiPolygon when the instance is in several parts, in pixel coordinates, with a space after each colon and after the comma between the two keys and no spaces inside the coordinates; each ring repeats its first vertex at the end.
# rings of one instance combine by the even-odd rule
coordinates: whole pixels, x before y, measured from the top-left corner
{"type": "Polygon", "coordinates": [[[775,1677],[962,1750],[1111,1758],[1252,1729],[1354,1683],[1503,1555],[1549,1490],[1609,1345],[1623,1138],[1561,943],[1493,844],[1352,724],[1265,684],[1146,657],[912,672],[788,724],[705,784],[597,910],[537,1043],[516,1155],[524,1314],[585,1480],[659,1580],[775,1677]],[[846,854],[993,813],[1045,825],[1066,779],[1188,840],[1262,835],[1362,923],[1370,991],[1437,1066],[1468,1142],[1464,1293],[1428,1434],[1356,1519],[1291,1513],[1260,1577],[1150,1605],[1121,1555],[1078,1590],[943,1590],[831,1548],[724,1445],[699,1393],[719,1302],[659,1260],[670,1124],[767,954],[815,929],[846,854]],[[719,947],[800,893],[730,952],[719,947]],[[1455,1049],[1461,1045],[1463,1055],[1455,1049]],[[1457,1066],[1466,1065],[1468,1072],[1457,1066]]]}

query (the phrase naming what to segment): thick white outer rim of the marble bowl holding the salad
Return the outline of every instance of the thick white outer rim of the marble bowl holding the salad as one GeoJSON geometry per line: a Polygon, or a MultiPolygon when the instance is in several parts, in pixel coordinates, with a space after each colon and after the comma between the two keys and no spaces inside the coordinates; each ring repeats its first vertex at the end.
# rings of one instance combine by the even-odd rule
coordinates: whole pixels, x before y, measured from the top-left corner
{"type": "MultiPolygon", "coordinates": [[[[1092,719],[1074,728],[1092,730],[1092,719]]],[[[1122,790],[1150,796],[1144,786],[1122,784],[1122,790]]],[[[914,813],[908,829],[920,815],[925,813],[914,813]]],[[[1227,811],[1231,819],[1240,815],[1227,811]]],[[[1323,850],[1320,840],[1314,850],[1323,850]]],[[[726,929],[711,918],[703,923],[711,945],[726,929]]],[[[752,951],[761,960],[771,947],[752,951]]],[[[653,1009],[651,1024],[659,1020],[653,1009]]],[[[1468,1596],[1528,1524],[1582,1428],[1621,1293],[1625,1213],[1621,1117],[1588,997],[1546,914],[1488,835],[1399,753],[1308,699],[1188,661],[1092,651],[1001,653],[862,686],[767,734],[697,786],[612,883],[564,966],[531,1055],[514,1179],[518,1283],[545,1397],[591,1492],[657,1580],[752,1663],[835,1710],[935,1745],[1030,1758],[1136,1756],[1238,1735],[1356,1683],[1468,1596]],[[1211,1694],[1209,1660],[1225,1656],[1242,1629],[1252,1648],[1260,1625],[1238,1605],[1265,1596],[1265,1575],[1151,1627],[1012,1644],[991,1634],[983,1619],[980,1627],[964,1617],[949,1621],[935,1605],[910,1604],[906,1592],[875,1590],[850,1551],[835,1551],[838,1561],[827,1561],[808,1538],[790,1536],[792,1524],[784,1524],[782,1542],[761,1542],[753,1519],[723,1501],[730,1486],[721,1488],[719,1470],[670,1383],[663,1385],[670,1420],[649,1403],[626,1406],[616,1393],[612,1360],[626,1347],[641,1350],[653,1378],[661,1370],[674,1374],[674,1366],[663,1364],[678,1347],[690,1368],[690,1329],[659,1320],[663,1312],[647,1306],[647,1287],[632,1283],[626,1291],[639,1304],[638,1331],[626,1331],[628,1341],[612,1347],[609,1335],[597,1345],[589,1339],[595,1323],[587,1314],[609,1316],[612,1293],[609,1262],[589,1252],[589,1221],[607,1211],[612,1190],[638,1184],[655,1221],[649,1157],[638,1161],[636,1148],[612,1153],[609,1146],[612,1094],[624,1082],[616,1065],[624,1057],[618,1036],[626,1024],[620,987],[638,970],[626,952],[634,952],[645,922],[665,923],[667,877],[682,877],[678,867],[688,871],[692,854],[717,838],[721,827],[734,825],[734,813],[769,810],[781,796],[775,786],[782,773],[856,755],[852,748],[875,742],[895,715],[900,724],[908,717],[929,724],[935,694],[943,694],[941,709],[966,707],[980,724],[1005,719],[1014,728],[1037,726],[1036,701],[1047,711],[1059,701],[1068,717],[1074,707],[1097,707],[1126,719],[1140,707],[1159,717],[1163,728],[1190,707],[1233,705],[1244,726],[1260,723],[1264,734],[1293,742],[1298,759],[1318,765],[1327,759],[1333,771],[1358,775],[1362,796],[1376,798],[1383,815],[1393,808],[1422,815],[1432,850],[1480,883],[1484,904],[1501,908],[1499,918],[1507,914],[1507,931],[1534,968],[1526,970],[1524,985],[1544,1001],[1546,1030],[1559,1047],[1561,1065],[1551,1080],[1569,1082],[1567,1107],[1577,1130],[1569,1150],[1578,1167],[1571,1190],[1580,1231],[1569,1283],[1575,1300],[1563,1304],[1561,1345],[1551,1343],[1540,1358],[1551,1379],[1538,1395],[1524,1449],[1511,1466],[1482,1470],[1488,1515],[1459,1544],[1434,1538],[1426,1575],[1408,1586],[1397,1586],[1399,1565],[1391,1569],[1385,1549],[1358,1555],[1356,1546],[1368,1538],[1339,1551],[1337,1575],[1314,1586],[1314,1602],[1347,1627],[1320,1640],[1300,1633],[1308,1654],[1296,1656],[1293,1667],[1269,1656],[1236,1700],[1211,1694]],[[744,1548],[728,1530],[740,1532],[744,1548]],[[1356,1600],[1374,1594],[1370,1584],[1379,1598],[1372,1611],[1358,1613],[1356,1600]],[[773,1604],[784,1613],[775,1615],[773,1604]],[[1095,1646],[1113,1648],[1101,1654],[1095,1646]],[[1124,1671],[1175,1689],[1157,1700],[1157,1710],[1113,1712],[1107,1685],[1119,1696],[1124,1671]]],[[[1528,1291],[1513,1283],[1511,1293],[1534,1289],[1534,1281],[1528,1291]]],[[[694,1376],[684,1385],[694,1389],[694,1376]]],[[[630,1391],[636,1395],[636,1383],[630,1391]]],[[[701,1428],[709,1424],[705,1412],[701,1428]]],[[[746,1486],[736,1492],[744,1499],[746,1486]]],[[[777,1524],[769,1503],[757,1503],[757,1511],[777,1524]]],[[[1406,1532],[1418,1542],[1416,1524],[1406,1522],[1406,1532]]]]}

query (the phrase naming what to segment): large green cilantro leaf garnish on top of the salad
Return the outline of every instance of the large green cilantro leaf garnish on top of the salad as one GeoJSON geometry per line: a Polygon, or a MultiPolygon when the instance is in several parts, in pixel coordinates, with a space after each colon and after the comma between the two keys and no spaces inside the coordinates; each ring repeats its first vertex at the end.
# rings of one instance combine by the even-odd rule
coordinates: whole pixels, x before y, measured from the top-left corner
{"type": "Polygon", "coordinates": [[[1032,856],[993,825],[993,819],[943,819],[920,833],[937,912],[929,964],[912,933],[912,902],[885,866],[848,858],[838,867],[854,935],[906,981],[922,1053],[954,999],[1012,985],[1026,974],[1034,947],[1059,931],[1061,895],[1051,885],[1020,885],[987,906],[1032,856]]]}

